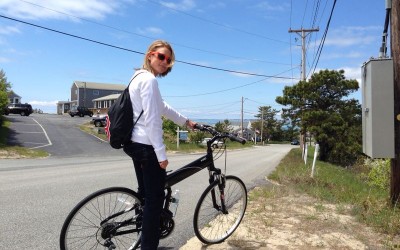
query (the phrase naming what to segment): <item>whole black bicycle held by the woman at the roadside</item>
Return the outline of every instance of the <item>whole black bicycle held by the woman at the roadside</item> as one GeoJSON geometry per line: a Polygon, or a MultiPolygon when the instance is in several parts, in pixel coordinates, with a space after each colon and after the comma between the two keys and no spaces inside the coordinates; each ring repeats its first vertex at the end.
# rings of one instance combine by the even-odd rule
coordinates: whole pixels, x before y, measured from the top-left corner
{"type": "MultiPolygon", "coordinates": [[[[204,235],[202,235],[202,233],[199,231],[198,224],[197,224],[200,222],[200,220],[197,220],[198,216],[204,218],[204,214],[201,215],[202,212],[199,213],[199,209],[201,209],[203,201],[207,195],[208,195],[208,197],[211,197],[212,202],[211,202],[211,204],[209,202],[207,202],[206,206],[208,206],[209,208],[214,208],[216,210],[214,212],[216,212],[216,213],[219,213],[219,214],[222,213],[225,215],[228,214],[229,207],[233,206],[232,199],[227,198],[227,200],[225,201],[225,195],[227,194],[229,197],[229,190],[227,193],[225,193],[225,185],[228,185],[229,187],[231,187],[232,183],[236,183],[236,185],[239,186],[239,190],[241,190],[245,194],[245,196],[240,196],[240,195],[239,196],[247,198],[246,193],[245,193],[246,190],[245,190],[244,183],[239,178],[234,177],[234,176],[225,176],[225,174],[222,173],[221,169],[215,167],[214,158],[218,156],[218,153],[216,153],[216,155],[214,155],[214,149],[212,147],[212,144],[216,140],[219,140],[219,139],[225,140],[225,139],[229,138],[232,141],[237,141],[240,143],[245,143],[245,141],[243,139],[238,138],[229,133],[220,133],[210,126],[201,125],[201,126],[197,126],[197,128],[200,129],[201,131],[210,132],[213,135],[213,138],[211,140],[207,141],[207,153],[205,155],[199,157],[198,159],[192,161],[191,163],[189,163],[173,172],[169,172],[166,175],[165,187],[164,187],[164,190],[166,192],[165,192],[164,205],[163,205],[161,221],[160,221],[161,222],[160,238],[167,237],[173,231],[174,224],[175,224],[174,220],[173,220],[174,215],[169,210],[170,204],[172,202],[171,187],[176,185],[177,183],[185,180],[186,178],[194,175],[195,173],[199,172],[202,169],[207,168],[207,170],[209,172],[209,184],[210,184],[210,186],[207,187],[207,189],[203,192],[203,194],[199,200],[199,203],[195,209],[195,215],[194,215],[195,216],[194,218],[196,218],[196,219],[194,219],[194,225],[196,225],[195,233],[202,242],[204,242],[204,243],[214,242],[213,239],[204,238],[204,235]],[[200,204],[200,207],[199,207],[199,204],[200,204]],[[229,207],[227,207],[227,206],[229,206],[229,207]]],[[[226,150],[226,146],[224,146],[224,147],[226,150]]],[[[225,151],[225,157],[226,157],[226,151],[225,151]]],[[[226,161],[225,161],[225,163],[226,163],[226,161]]],[[[237,217],[238,219],[234,220],[233,224],[229,225],[230,228],[228,228],[228,229],[232,229],[232,230],[236,229],[236,227],[238,226],[238,223],[240,223],[240,220],[243,218],[246,203],[247,203],[247,200],[244,202],[244,206],[242,207],[241,214],[238,215],[238,217],[237,217]]],[[[94,244],[101,244],[104,247],[113,249],[113,248],[115,248],[115,244],[112,241],[114,236],[138,233],[138,235],[137,235],[138,238],[134,237],[136,240],[134,241],[132,247],[130,248],[130,249],[136,249],[138,244],[140,244],[140,234],[141,234],[141,230],[142,230],[142,228],[141,228],[142,213],[143,213],[143,207],[144,207],[143,204],[144,204],[143,197],[138,196],[138,194],[135,191],[132,191],[131,189],[128,189],[128,188],[113,187],[113,188],[109,188],[109,189],[99,190],[98,192],[93,193],[92,195],[90,195],[90,196],[86,197],[84,200],[82,200],[74,208],[74,210],[71,211],[70,215],[68,215],[66,221],[64,222],[62,231],[61,231],[62,236],[60,236],[60,245],[64,247],[64,244],[66,244],[66,242],[65,242],[66,236],[70,233],[69,226],[73,225],[70,223],[78,221],[77,227],[79,228],[79,226],[81,226],[79,224],[79,220],[81,219],[81,218],[79,218],[79,216],[81,216],[80,215],[81,209],[86,208],[89,211],[88,217],[91,217],[91,215],[96,215],[96,217],[97,217],[96,219],[101,220],[100,227],[94,228],[97,231],[94,232],[94,234],[91,233],[89,235],[90,237],[95,237],[94,244]],[[106,215],[107,217],[105,217],[105,216],[97,217],[96,212],[92,212],[91,209],[88,209],[86,207],[86,205],[93,206],[93,205],[90,205],[92,202],[92,199],[97,199],[98,197],[100,197],[100,199],[103,199],[102,198],[103,195],[104,196],[105,196],[105,194],[108,195],[108,193],[112,194],[112,192],[115,192],[115,195],[117,195],[117,196],[115,196],[115,198],[113,198],[113,201],[115,200],[115,202],[123,203],[123,205],[120,208],[118,208],[113,214],[110,214],[109,213],[110,211],[108,211],[108,213],[104,214],[104,215],[107,214],[106,215]],[[119,196],[119,195],[121,195],[121,196],[119,196]],[[121,197],[121,200],[119,197],[121,197]],[[128,200],[129,200],[126,203],[125,203],[125,201],[126,201],[125,197],[128,197],[128,200]],[[133,210],[135,210],[135,211],[130,216],[125,215],[133,210]],[[75,218],[75,215],[76,215],[76,218],[75,218]],[[103,239],[104,239],[104,242],[102,242],[103,239]]],[[[96,208],[94,208],[94,209],[96,210],[96,208]]],[[[207,210],[206,220],[208,219],[208,216],[209,215],[208,215],[208,210],[207,210]]],[[[200,222],[200,223],[203,223],[203,222],[200,222]]],[[[86,226],[84,226],[83,229],[86,229],[86,226]]],[[[71,229],[71,232],[73,232],[73,231],[74,231],[74,229],[71,229]]],[[[233,231],[231,231],[231,232],[227,231],[227,235],[219,236],[221,238],[216,239],[217,241],[215,241],[215,242],[220,242],[221,240],[224,240],[226,237],[229,237],[232,232],[233,231]]],[[[74,234],[74,233],[72,233],[72,234],[74,234]]],[[[74,237],[72,237],[71,240],[73,238],[74,237]]]]}

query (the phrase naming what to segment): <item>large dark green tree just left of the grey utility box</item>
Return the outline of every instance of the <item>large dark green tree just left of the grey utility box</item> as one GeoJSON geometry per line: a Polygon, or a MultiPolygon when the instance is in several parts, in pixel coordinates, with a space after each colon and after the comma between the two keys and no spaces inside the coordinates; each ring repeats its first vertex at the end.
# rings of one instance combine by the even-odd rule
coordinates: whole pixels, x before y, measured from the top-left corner
{"type": "Polygon", "coordinates": [[[352,164],[361,153],[361,105],[348,96],[358,90],[356,80],[346,80],[344,70],[321,70],[309,81],[286,86],[276,102],[304,133],[320,145],[319,159],[352,164]]]}

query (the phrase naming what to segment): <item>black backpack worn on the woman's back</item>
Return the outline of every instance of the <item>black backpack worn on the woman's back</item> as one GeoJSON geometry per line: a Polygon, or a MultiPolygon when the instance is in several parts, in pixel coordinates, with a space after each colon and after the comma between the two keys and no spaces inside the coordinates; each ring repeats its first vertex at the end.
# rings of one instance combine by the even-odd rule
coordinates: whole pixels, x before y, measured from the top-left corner
{"type": "MultiPolygon", "coordinates": [[[[132,80],[136,76],[134,76],[132,80]]],[[[111,105],[106,116],[105,132],[111,147],[115,149],[120,149],[126,143],[130,142],[133,128],[143,114],[142,110],[135,123],[133,123],[133,109],[131,97],[129,95],[129,85],[131,84],[132,80],[129,82],[128,87],[124,89],[118,99],[115,100],[115,102],[111,105]]]]}

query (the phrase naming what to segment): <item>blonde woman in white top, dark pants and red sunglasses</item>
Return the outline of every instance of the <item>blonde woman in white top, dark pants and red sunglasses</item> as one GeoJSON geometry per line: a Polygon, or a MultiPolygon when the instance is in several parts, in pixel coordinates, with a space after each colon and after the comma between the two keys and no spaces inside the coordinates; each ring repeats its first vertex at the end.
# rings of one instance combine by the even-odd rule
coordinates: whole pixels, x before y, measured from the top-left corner
{"type": "Polygon", "coordinates": [[[132,143],[124,146],[125,153],[133,160],[138,192],[145,200],[141,249],[157,249],[160,238],[165,169],[168,166],[161,117],[191,128],[196,124],[172,109],[161,97],[156,78],[171,72],[174,61],[171,45],[161,40],[154,41],[145,54],[142,68],[135,72],[129,86],[135,120],[143,110],[132,132],[132,143]]]}

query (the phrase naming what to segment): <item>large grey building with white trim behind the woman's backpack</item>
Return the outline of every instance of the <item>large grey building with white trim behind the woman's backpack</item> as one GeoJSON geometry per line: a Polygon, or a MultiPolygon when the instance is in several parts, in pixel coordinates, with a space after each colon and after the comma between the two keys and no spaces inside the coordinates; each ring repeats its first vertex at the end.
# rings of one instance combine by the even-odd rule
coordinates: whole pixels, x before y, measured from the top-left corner
{"type": "Polygon", "coordinates": [[[104,113],[104,109],[108,108],[125,88],[123,84],[74,81],[71,86],[71,101],[59,101],[57,114],[67,113],[73,106],[84,106],[94,113],[104,113]]]}

